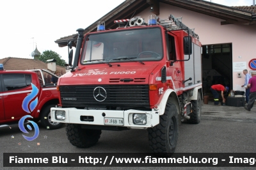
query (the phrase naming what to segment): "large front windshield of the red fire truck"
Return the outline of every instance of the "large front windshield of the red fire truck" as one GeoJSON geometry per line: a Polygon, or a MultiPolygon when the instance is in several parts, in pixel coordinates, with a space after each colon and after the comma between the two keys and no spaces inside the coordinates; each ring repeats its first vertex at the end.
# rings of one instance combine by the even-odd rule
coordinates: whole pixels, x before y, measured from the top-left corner
{"type": "Polygon", "coordinates": [[[81,64],[158,61],[163,58],[161,29],[115,30],[88,35],[81,64]],[[103,62],[102,62],[103,61],[103,62]]]}

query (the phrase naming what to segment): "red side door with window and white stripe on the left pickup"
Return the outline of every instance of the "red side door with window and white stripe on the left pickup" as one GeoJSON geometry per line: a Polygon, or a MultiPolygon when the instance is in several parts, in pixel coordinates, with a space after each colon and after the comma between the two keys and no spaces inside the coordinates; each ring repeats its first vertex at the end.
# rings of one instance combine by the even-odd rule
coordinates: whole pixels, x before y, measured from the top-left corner
{"type": "Polygon", "coordinates": [[[29,114],[22,109],[22,102],[32,91],[31,75],[6,73],[2,77],[5,120],[17,121],[29,114]],[[26,81],[26,77],[30,77],[30,82],[26,81]]]}

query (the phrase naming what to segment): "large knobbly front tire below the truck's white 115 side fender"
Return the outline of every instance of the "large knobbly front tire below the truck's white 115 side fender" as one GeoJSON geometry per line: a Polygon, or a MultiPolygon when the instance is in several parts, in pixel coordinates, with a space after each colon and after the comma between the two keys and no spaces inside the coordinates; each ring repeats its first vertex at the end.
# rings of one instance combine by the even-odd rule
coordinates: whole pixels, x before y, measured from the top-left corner
{"type": "Polygon", "coordinates": [[[179,135],[179,118],[174,104],[166,103],[159,124],[148,128],[150,149],[157,155],[170,156],[175,151],[179,135]]]}

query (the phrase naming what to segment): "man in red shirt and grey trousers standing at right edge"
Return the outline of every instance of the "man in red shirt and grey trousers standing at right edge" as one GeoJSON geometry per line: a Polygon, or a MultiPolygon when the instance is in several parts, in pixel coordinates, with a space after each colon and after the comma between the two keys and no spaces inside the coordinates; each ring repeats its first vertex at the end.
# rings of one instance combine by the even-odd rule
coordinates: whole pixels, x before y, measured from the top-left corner
{"type": "Polygon", "coordinates": [[[244,109],[251,111],[256,99],[256,72],[252,72],[252,78],[249,80],[247,86],[250,88],[250,97],[248,105],[245,105],[244,109]]]}

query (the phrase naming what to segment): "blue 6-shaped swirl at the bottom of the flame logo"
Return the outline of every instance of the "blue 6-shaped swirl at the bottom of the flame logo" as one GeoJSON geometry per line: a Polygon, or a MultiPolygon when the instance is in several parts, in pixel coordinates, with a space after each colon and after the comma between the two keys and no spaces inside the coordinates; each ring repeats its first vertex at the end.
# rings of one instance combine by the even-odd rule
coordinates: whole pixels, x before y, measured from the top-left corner
{"type": "MultiPolygon", "coordinates": [[[[30,115],[26,115],[26,116],[23,116],[20,120],[19,120],[19,128],[21,130],[21,132],[25,133],[25,134],[29,134],[29,132],[25,129],[24,127],[24,121],[26,120],[26,118],[33,118],[32,116],[30,115]]],[[[38,125],[35,123],[35,121],[30,121],[28,120],[32,125],[33,127],[35,128],[35,135],[33,135],[32,137],[28,137],[26,135],[23,135],[23,137],[27,140],[27,141],[33,141],[34,139],[36,139],[36,137],[38,137],[39,135],[39,128],[38,128],[38,125]]],[[[27,125],[28,129],[29,130],[32,130],[31,126],[30,125],[27,125]]]]}

